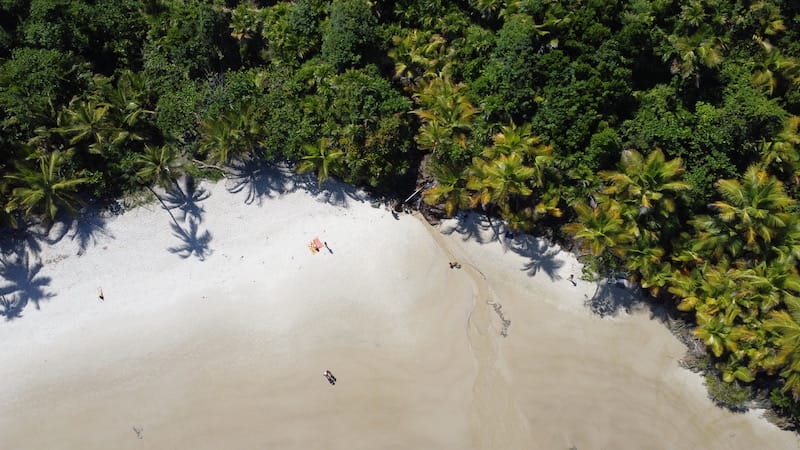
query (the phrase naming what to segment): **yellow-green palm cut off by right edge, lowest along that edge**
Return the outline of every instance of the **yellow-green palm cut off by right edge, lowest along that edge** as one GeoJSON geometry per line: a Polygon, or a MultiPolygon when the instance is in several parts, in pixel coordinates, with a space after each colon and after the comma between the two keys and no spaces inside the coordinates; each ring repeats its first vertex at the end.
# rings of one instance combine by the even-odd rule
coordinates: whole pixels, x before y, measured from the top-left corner
{"type": "Polygon", "coordinates": [[[775,334],[778,354],[773,364],[782,369],[784,391],[791,391],[795,400],[800,400],[800,299],[789,298],[785,310],[770,312],[764,327],[775,334]]]}

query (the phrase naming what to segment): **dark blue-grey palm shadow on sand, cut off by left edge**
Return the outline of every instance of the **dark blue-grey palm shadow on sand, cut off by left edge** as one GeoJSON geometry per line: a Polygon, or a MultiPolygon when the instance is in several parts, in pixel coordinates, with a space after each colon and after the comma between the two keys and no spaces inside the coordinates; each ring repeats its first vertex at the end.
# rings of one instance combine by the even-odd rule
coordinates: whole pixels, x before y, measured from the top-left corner
{"type": "Polygon", "coordinates": [[[31,262],[30,253],[12,253],[0,257],[0,315],[7,321],[22,317],[22,310],[29,303],[39,309],[39,303],[55,296],[45,287],[51,278],[40,276],[44,265],[31,262]]]}

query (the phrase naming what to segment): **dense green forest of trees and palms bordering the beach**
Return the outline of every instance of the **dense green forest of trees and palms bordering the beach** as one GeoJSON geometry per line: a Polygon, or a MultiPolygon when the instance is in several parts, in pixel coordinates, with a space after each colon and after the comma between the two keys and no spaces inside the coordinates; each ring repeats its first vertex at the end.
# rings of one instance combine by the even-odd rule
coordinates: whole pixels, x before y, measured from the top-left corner
{"type": "Polygon", "coordinates": [[[723,382],[800,411],[795,1],[3,0],[0,121],[8,226],[242,159],[433,179],[444,214],[572,238],[693,314],[723,382]]]}

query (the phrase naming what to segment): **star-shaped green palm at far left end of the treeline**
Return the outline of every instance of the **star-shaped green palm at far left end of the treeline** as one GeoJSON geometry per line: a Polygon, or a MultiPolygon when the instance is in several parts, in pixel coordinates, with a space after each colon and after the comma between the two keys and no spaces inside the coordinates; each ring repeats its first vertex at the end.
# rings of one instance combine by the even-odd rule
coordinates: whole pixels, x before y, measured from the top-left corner
{"type": "Polygon", "coordinates": [[[36,168],[17,164],[17,173],[5,176],[16,186],[11,191],[7,208],[21,208],[27,216],[41,214],[45,223],[55,220],[61,208],[75,214],[80,203],[76,191],[89,179],[64,176],[61,171],[64,155],[60,151],[39,155],[36,168]]]}

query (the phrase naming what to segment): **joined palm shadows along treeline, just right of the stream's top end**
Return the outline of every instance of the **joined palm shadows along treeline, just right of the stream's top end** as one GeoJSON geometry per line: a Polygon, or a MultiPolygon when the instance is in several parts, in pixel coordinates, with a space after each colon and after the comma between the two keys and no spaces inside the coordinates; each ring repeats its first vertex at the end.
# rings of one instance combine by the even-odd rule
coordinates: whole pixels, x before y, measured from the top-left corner
{"type": "Polygon", "coordinates": [[[527,234],[510,235],[505,224],[499,219],[490,219],[476,213],[459,213],[455,220],[442,222],[440,230],[444,234],[459,233],[464,241],[474,240],[479,244],[498,242],[504,251],[512,251],[528,259],[522,269],[528,276],[545,273],[551,280],[560,279],[558,272],[564,261],[557,255],[561,249],[547,240],[527,234]]]}

